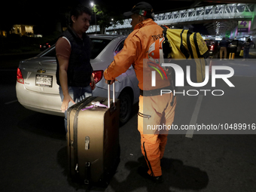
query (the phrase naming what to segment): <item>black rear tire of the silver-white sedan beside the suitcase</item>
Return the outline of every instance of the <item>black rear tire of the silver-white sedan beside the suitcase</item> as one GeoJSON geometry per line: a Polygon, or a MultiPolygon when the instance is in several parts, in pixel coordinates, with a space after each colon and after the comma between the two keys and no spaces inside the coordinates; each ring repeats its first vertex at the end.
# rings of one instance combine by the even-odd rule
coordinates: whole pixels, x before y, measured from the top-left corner
{"type": "Polygon", "coordinates": [[[123,92],[120,93],[120,96],[118,97],[120,100],[120,116],[119,116],[119,122],[120,125],[125,124],[129,118],[130,114],[132,112],[132,97],[129,93],[123,92]]]}

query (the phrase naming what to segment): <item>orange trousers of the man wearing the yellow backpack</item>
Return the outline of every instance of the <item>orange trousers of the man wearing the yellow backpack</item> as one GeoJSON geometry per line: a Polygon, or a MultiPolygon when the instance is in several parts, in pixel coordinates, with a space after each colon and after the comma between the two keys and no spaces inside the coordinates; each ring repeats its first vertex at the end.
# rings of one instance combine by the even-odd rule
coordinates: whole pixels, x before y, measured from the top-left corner
{"type": "Polygon", "coordinates": [[[168,129],[160,130],[156,127],[172,125],[175,106],[176,97],[172,93],[139,96],[138,130],[141,134],[142,154],[148,163],[148,175],[162,175],[160,160],[165,151],[168,129]]]}

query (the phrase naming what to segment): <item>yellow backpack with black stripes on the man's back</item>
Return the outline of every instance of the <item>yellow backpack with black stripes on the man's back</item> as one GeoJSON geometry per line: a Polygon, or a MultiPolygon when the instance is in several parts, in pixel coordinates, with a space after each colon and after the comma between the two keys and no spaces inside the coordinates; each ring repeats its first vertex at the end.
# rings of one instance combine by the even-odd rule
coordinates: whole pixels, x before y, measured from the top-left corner
{"type": "Polygon", "coordinates": [[[194,83],[203,82],[209,50],[200,33],[190,32],[187,29],[161,27],[165,38],[165,41],[163,41],[163,56],[172,58],[173,62],[181,66],[184,72],[186,72],[186,66],[190,66],[190,80],[194,83]],[[169,46],[166,46],[168,45],[166,43],[169,46]]]}

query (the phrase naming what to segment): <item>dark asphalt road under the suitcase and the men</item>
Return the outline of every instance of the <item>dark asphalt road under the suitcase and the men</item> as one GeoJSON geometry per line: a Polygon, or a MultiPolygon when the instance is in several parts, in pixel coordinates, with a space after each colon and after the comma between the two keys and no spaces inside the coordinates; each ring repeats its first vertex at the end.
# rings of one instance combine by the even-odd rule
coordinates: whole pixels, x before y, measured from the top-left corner
{"type": "MultiPolygon", "coordinates": [[[[83,185],[72,183],[67,176],[63,118],[29,111],[17,102],[18,59],[7,56],[0,63],[0,190],[84,191],[83,185]]],[[[93,187],[91,191],[254,192],[256,130],[252,126],[256,123],[256,62],[240,59],[227,66],[235,71],[229,78],[235,87],[222,80],[216,81],[216,87],[212,87],[211,81],[203,88],[180,87],[178,91],[182,94],[177,94],[174,122],[178,128],[190,124],[222,125],[224,130],[182,130],[182,134],[170,134],[162,160],[165,182],[152,184],[136,172],[143,157],[135,105],[130,121],[120,127],[121,154],[116,174],[107,188],[93,187]],[[199,90],[199,95],[187,96],[187,90],[199,90]],[[211,91],[204,96],[205,92],[200,90],[211,91]],[[224,95],[213,96],[212,90],[223,90],[224,95]],[[245,124],[247,130],[227,128],[234,127],[234,123],[245,124]]]]}

